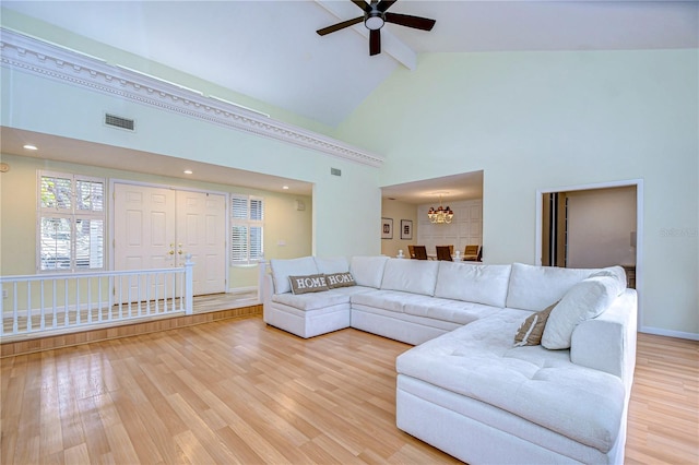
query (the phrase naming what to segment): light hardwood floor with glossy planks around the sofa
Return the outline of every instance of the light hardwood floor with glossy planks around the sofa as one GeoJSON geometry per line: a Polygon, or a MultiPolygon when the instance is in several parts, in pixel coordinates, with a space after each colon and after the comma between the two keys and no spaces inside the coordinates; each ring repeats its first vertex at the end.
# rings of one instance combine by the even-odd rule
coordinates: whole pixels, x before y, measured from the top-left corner
{"type": "MultiPolygon", "coordinates": [[[[0,360],[2,464],[459,463],[395,428],[395,357],[226,320],[0,360]]],[[[699,461],[699,343],[639,335],[627,463],[699,461]]]]}

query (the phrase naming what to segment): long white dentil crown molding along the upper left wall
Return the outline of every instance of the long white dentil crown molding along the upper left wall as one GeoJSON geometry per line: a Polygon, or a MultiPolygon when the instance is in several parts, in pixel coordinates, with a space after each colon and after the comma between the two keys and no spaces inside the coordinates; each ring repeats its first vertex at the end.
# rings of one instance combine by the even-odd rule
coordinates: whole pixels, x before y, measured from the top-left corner
{"type": "Polygon", "coordinates": [[[258,111],[206,96],[128,68],[0,28],[3,67],[36,74],[67,85],[99,92],[213,124],[316,150],[334,157],[380,167],[383,158],[312,131],[276,121],[258,111]]]}

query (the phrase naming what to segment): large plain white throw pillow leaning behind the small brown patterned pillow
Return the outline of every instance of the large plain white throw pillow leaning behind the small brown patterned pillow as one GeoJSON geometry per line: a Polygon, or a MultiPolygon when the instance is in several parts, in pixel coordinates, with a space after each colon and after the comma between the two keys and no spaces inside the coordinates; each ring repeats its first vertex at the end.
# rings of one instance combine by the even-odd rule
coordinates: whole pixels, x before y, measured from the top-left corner
{"type": "Polygon", "coordinates": [[[618,282],[612,276],[589,277],[576,284],[552,310],[542,336],[547,349],[570,348],[576,326],[604,312],[618,296],[618,282]]]}

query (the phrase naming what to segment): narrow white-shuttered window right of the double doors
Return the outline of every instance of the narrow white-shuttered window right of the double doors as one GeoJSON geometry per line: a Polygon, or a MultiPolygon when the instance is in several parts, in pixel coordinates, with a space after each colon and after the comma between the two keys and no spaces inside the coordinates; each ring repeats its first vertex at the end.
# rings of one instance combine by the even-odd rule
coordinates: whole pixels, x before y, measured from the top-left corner
{"type": "Polygon", "coordinates": [[[264,260],[264,199],[230,195],[230,263],[264,260]]]}

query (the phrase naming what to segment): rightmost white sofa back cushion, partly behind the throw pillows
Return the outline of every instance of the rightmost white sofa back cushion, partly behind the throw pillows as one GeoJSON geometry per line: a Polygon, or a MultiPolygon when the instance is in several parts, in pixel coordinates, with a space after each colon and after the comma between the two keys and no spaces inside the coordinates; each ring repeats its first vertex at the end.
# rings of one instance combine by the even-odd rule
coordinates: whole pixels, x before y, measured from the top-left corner
{"type": "Polygon", "coordinates": [[[582,279],[600,269],[561,269],[512,264],[507,291],[507,307],[530,311],[544,310],[582,279]]]}

